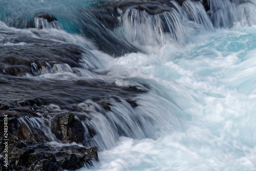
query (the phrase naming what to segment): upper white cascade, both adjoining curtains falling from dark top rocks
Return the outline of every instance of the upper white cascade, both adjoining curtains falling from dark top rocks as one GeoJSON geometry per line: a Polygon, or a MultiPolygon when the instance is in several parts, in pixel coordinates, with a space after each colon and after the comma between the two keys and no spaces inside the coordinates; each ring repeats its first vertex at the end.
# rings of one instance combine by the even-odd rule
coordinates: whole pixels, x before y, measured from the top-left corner
{"type": "Polygon", "coordinates": [[[191,35],[214,30],[200,2],[185,1],[182,7],[175,2],[171,4],[170,11],[155,15],[145,10],[127,9],[122,15],[125,38],[143,45],[164,44],[167,37],[187,43],[191,35]]]}

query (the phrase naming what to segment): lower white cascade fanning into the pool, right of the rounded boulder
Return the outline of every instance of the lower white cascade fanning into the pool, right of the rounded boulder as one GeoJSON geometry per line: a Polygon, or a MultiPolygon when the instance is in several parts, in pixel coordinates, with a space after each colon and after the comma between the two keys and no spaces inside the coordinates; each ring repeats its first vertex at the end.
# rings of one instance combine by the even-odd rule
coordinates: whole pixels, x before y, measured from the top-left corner
{"type": "Polygon", "coordinates": [[[95,133],[90,141],[85,141],[102,150],[114,147],[120,136],[157,139],[163,123],[168,131],[181,130],[176,115],[179,109],[173,103],[154,93],[137,97],[136,100],[125,101],[111,96],[104,108],[92,100],[79,103],[77,108],[82,110],[79,114],[90,118],[82,121],[85,129],[95,133]],[[154,109],[151,103],[158,103],[162,107],[154,109]]]}

